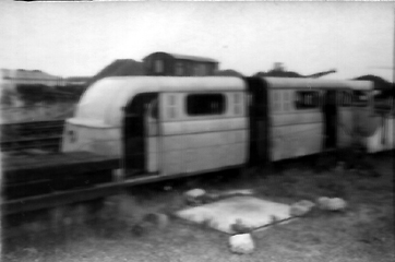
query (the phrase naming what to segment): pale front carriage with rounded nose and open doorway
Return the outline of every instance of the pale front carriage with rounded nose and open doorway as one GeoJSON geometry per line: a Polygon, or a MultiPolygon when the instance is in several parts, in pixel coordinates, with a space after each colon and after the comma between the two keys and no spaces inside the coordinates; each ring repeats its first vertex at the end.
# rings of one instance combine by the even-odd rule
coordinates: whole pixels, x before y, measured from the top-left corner
{"type": "Polygon", "coordinates": [[[196,174],[248,157],[246,83],[237,78],[110,78],[67,121],[63,151],[122,158],[127,176],[196,174]]]}

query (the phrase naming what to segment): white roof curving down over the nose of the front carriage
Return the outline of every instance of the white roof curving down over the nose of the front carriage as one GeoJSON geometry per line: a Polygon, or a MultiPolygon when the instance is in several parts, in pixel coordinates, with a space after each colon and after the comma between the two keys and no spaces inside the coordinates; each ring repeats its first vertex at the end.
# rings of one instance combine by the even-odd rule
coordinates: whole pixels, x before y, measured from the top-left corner
{"type": "Polygon", "coordinates": [[[95,127],[120,127],[122,108],[141,93],[243,91],[239,78],[117,76],[103,79],[82,96],[69,122],[95,127]]]}

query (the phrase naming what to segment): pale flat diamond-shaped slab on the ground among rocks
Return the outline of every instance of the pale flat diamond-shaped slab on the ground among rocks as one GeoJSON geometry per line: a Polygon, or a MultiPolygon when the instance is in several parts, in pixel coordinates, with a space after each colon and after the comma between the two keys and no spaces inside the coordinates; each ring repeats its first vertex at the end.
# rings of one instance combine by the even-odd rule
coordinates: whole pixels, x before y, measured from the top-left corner
{"type": "Polygon", "coordinates": [[[289,205],[258,199],[250,195],[239,195],[223,199],[205,205],[189,207],[176,213],[180,218],[199,224],[206,224],[210,227],[235,234],[234,224],[242,223],[248,228],[262,229],[273,223],[288,222],[289,205]]]}

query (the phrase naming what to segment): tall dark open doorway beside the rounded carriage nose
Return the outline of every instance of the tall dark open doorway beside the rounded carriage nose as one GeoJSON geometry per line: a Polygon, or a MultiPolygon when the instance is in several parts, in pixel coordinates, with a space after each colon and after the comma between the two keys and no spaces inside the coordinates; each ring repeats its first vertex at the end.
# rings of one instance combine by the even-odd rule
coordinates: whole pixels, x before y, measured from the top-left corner
{"type": "MultiPolygon", "coordinates": [[[[123,165],[127,176],[148,171],[148,136],[153,127],[153,105],[157,94],[139,94],[124,108],[123,119],[123,165]],[[149,114],[152,116],[149,116],[149,114]]],[[[156,121],[157,124],[157,121],[156,121]]],[[[155,124],[154,124],[155,126],[155,124]]]]}

